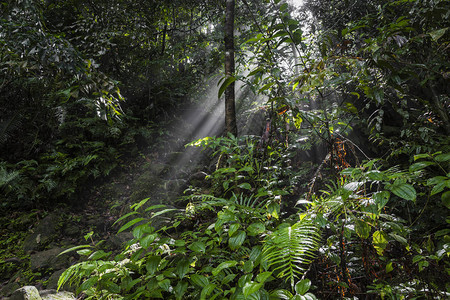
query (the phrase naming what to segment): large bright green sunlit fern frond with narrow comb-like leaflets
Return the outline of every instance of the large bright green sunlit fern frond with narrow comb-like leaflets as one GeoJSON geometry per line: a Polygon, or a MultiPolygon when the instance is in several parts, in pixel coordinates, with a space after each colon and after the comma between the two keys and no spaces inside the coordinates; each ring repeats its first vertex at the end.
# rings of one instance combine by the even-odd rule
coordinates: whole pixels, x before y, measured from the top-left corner
{"type": "Polygon", "coordinates": [[[280,278],[294,287],[295,279],[305,272],[319,247],[320,233],[310,219],[304,218],[292,226],[273,232],[263,248],[263,260],[280,278]]]}

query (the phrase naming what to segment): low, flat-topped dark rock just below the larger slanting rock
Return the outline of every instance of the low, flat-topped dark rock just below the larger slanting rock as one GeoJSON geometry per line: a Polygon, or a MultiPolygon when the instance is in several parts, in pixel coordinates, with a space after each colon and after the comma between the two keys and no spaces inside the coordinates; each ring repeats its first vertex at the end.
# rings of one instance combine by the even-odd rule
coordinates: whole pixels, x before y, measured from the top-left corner
{"type": "Polygon", "coordinates": [[[63,254],[58,256],[63,251],[62,248],[53,248],[46,251],[41,251],[31,255],[30,268],[31,271],[39,269],[54,269],[60,270],[68,267],[70,264],[70,256],[63,254]]]}

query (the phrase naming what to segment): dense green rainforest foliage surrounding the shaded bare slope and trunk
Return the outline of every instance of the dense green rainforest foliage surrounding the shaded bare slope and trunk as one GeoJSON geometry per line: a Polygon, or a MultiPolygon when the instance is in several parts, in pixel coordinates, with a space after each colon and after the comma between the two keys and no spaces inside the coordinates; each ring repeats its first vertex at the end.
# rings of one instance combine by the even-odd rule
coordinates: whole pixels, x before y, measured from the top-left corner
{"type": "MultiPolygon", "coordinates": [[[[77,199],[221,68],[226,1],[1,1],[0,205],[77,199]],[[95,181],[94,181],[95,182],[95,181]]],[[[450,295],[450,3],[236,0],[260,136],[206,137],[207,187],[135,203],[120,253],[75,249],[90,299],[450,295]]],[[[223,72],[222,72],[223,73],[223,72]]],[[[239,130],[239,129],[238,129],[239,130]]],[[[148,195],[151,197],[151,195],[148,195]]],[[[70,249],[69,249],[70,250],[70,249]]]]}

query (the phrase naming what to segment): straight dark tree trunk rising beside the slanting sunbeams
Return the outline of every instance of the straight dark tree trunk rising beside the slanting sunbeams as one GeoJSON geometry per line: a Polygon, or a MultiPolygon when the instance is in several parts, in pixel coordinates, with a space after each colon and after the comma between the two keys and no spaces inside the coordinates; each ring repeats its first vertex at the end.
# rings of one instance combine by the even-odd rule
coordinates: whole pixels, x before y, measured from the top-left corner
{"type": "MultiPolygon", "coordinates": [[[[225,12],[225,76],[234,76],[234,4],[235,0],[227,0],[225,12]]],[[[232,82],[225,90],[225,126],[226,132],[237,136],[235,84],[232,82]]]]}

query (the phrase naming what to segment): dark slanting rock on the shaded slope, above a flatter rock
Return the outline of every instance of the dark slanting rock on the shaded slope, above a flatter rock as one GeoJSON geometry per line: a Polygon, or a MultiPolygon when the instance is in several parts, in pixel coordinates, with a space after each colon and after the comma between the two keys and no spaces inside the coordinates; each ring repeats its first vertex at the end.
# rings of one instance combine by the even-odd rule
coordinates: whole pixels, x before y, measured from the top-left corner
{"type": "Polygon", "coordinates": [[[57,236],[61,214],[51,213],[33,229],[33,233],[25,238],[23,250],[25,252],[43,250],[45,246],[57,236]]]}

